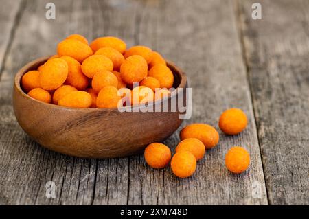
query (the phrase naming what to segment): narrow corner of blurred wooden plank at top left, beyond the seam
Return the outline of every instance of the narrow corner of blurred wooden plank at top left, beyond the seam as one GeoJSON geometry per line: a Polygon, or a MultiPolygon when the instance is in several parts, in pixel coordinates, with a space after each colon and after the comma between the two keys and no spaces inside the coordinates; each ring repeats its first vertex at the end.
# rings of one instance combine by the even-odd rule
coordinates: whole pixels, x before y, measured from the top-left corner
{"type": "Polygon", "coordinates": [[[0,0],[0,78],[2,71],[2,63],[5,57],[5,52],[10,47],[11,39],[14,37],[14,27],[18,23],[21,11],[21,0],[5,1],[0,0]]]}

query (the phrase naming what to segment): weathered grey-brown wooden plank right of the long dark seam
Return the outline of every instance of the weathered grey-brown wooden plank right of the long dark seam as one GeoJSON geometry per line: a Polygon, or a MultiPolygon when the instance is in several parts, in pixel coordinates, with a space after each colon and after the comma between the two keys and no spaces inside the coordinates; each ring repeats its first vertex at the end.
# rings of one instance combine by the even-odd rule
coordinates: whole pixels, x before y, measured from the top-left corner
{"type": "Polygon", "coordinates": [[[244,48],[269,203],[309,203],[309,3],[240,1],[244,48]]]}

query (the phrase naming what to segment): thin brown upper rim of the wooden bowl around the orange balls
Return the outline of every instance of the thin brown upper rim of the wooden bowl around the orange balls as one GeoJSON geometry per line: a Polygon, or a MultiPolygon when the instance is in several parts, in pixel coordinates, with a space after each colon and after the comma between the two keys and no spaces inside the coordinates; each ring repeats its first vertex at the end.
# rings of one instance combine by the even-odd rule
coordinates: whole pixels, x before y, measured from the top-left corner
{"type": "MultiPolygon", "coordinates": [[[[23,97],[26,97],[34,102],[38,102],[39,104],[43,104],[47,107],[52,107],[52,108],[62,108],[62,109],[69,109],[71,111],[87,111],[87,112],[92,112],[92,111],[95,111],[95,112],[98,112],[98,111],[106,111],[106,112],[119,112],[118,108],[76,108],[76,107],[67,107],[67,106],[59,106],[59,105],[56,105],[56,104],[52,104],[52,103],[45,103],[45,102],[42,102],[42,101],[39,101],[39,100],[36,100],[32,97],[30,97],[30,95],[27,95],[27,93],[25,93],[25,91],[23,91],[23,89],[21,88],[21,78],[23,77],[23,75],[25,73],[27,73],[27,70],[30,69],[32,66],[38,64],[39,62],[46,62],[50,57],[52,56],[43,56],[43,57],[40,57],[40,58],[36,58],[35,60],[32,60],[31,62],[28,62],[26,65],[24,65],[23,67],[21,67],[21,69],[19,69],[19,71],[17,71],[17,73],[15,74],[15,77],[14,77],[14,87],[15,87],[15,90],[18,91],[21,95],[23,95],[23,97]]],[[[154,101],[154,102],[151,102],[150,104],[144,104],[143,106],[124,106],[122,109],[124,109],[124,112],[126,112],[126,109],[128,108],[131,108],[131,112],[134,111],[135,108],[139,108],[139,111],[141,108],[146,108],[146,107],[150,107],[150,106],[153,106],[155,104],[161,104],[163,101],[165,100],[170,100],[172,99],[172,97],[174,97],[175,95],[178,95],[180,93],[180,89],[185,89],[186,88],[186,84],[187,84],[187,76],[185,74],[185,72],[179,68],[178,66],[176,66],[174,64],[174,62],[171,62],[170,60],[166,60],[165,59],[165,62],[167,64],[167,66],[170,68],[170,70],[172,72],[175,72],[176,74],[179,75],[179,78],[180,78],[180,83],[179,83],[179,86],[175,88],[174,91],[171,92],[171,94],[168,96],[168,98],[163,98],[161,99],[160,101],[154,101]],[[174,69],[174,71],[171,69],[174,69]]],[[[35,71],[35,70],[31,70],[31,71],[35,71]]]]}

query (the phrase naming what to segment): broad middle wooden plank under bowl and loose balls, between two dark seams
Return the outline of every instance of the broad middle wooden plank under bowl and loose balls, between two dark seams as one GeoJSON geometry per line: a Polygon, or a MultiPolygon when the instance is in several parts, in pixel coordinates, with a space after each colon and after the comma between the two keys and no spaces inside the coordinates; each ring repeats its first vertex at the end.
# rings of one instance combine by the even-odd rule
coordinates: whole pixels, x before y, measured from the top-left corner
{"type": "MultiPolygon", "coordinates": [[[[45,19],[47,1],[26,1],[0,82],[0,203],[34,205],[267,204],[258,137],[246,69],[242,62],[231,1],[53,1],[55,21],[45,19]],[[224,7],[222,7],[224,5],[224,7]],[[78,159],[45,150],[16,123],[12,78],[30,60],[54,54],[56,43],[80,33],[89,40],[119,36],[128,46],[148,45],[188,74],[193,93],[192,122],[217,129],[226,108],[247,113],[249,126],[236,136],[220,132],[191,178],[170,168],[154,170],[142,155],[123,159],[78,159]],[[242,145],[251,154],[249,170],[227,171],[224,155],[242,145]],[[56,198],[45,197],[45,183],[56,183],[56,198]],[[258,181],[262,196],[253,198],[258,181]]],[[[160,127],[155,127],[160,128],[160,127]]],[[[180,129],[179,129],[180,130],[180,129]]],[[[179,130],[165,141],[173,150],[179,130]]]]}

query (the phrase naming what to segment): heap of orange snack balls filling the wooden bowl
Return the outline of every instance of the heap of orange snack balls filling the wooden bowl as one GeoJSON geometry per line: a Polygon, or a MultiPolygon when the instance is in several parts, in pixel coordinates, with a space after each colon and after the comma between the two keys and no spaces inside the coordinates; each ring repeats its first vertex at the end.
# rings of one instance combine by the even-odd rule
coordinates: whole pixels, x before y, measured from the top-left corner
{"type": "Polygon", "coordinates": [[[58,43],[56,55],[21,78],[30,97],[74,108],[152,102],[167,97],[173,83],[172,71],[156,51],[141,45],[127,49],[124,41],[113,36],[89,44],[79,34],[58,43]],[[133,88],[135,83],[138,86],[133,88]],[[128,98],[120,102],[124,96],[128,98]]]}

